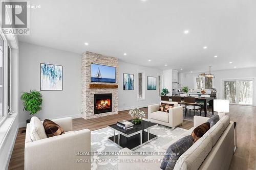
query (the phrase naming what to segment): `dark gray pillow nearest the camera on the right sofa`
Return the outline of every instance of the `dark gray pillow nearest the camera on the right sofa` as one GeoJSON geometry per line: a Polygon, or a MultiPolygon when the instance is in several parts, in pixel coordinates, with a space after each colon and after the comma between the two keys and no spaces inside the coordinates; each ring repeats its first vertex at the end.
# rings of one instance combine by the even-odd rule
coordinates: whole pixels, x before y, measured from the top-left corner
{"type": "Polygon", "coordinates": [[[188,135],[171,144],[163,157],[160,168],[163,170],[174,169],[179,157],[191,147],[193,142],[193,137],[188,135]]]}

